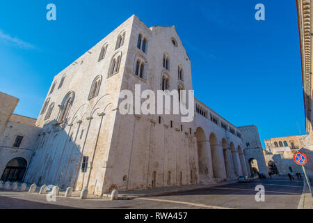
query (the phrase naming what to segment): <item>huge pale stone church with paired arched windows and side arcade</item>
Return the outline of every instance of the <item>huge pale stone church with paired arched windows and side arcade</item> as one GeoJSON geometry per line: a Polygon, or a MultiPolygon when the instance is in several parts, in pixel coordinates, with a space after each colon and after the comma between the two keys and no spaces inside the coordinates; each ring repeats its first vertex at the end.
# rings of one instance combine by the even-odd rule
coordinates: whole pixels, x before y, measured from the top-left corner
{"type": "Polygon", "coordinates": [[[157,91],[162,78],[170,91],[193,89],[188,54],[174,26],[148,28],[133,15],[54,77],[26,182],[102,195],[249,174],[241,130],[199,100],[189,123],[176,114],[120,114],[120,91],[157,91]]]}

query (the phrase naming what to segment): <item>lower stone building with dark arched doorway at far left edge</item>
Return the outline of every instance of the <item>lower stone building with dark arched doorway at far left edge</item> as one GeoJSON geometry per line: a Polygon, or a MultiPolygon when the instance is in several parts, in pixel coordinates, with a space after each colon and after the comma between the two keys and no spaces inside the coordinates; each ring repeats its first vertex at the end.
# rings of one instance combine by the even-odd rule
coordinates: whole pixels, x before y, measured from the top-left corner
{"type": "Polygon", "coordinates": [[[18,101],[0,92],[0,174],[4,181],[23,180],[40,134],[34,118],[13,114],[18,101]]]}

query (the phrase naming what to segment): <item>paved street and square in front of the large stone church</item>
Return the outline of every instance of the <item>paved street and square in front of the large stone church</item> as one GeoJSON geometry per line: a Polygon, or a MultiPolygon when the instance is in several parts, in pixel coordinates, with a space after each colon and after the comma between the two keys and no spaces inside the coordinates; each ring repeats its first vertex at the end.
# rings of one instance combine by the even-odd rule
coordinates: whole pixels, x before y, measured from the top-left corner
{"type": "Polygon", "coordinates": [[[56,197],[49,202],[45,195],[0,190],[0,208],[297,208],[302,190],[302,180],[289,181],[285,176],[116,201],[56,197]],[[260,184],[265,187],[264,202],[255,201],[255,186],[260,184]]]}

